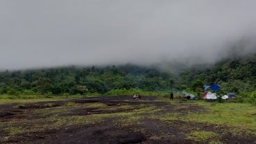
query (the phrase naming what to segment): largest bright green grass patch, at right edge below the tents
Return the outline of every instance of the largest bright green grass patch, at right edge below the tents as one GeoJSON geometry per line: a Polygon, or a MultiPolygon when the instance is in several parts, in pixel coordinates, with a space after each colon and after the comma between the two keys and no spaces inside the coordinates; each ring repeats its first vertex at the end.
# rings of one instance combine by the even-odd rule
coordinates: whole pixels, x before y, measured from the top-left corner
{"type": "MultiPolygon", "coordinates": [[[[256,109],[247,103],[212,103],[198,101],[208,111],[200,114],[189,113],[185,119],[198,123],[224,125],[234,136],[253,134],[256,136],[256,109]],[[253,133],[254,132],[254,133],[253,133]]],[[[181,117],[181,116],[179,116],[181,117]]],[[[184,116],[183,116],[184,118],[184,116]]]]}

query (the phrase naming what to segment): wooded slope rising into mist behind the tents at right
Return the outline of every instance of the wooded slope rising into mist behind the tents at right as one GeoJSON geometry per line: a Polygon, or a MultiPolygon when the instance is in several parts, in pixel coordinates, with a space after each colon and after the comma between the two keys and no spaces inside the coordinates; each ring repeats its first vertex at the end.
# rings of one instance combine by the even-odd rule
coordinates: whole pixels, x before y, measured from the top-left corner
{"type": "Polygon", "coordinates": [[[192,88],[195,81],[203,84],[217,83],[225,93],[239,94],[240,91],[255,91],[256,89],[255,55],[223,60],[210,68],[203,67],[195,66],[181,73],[181,82],[192,88]]]}

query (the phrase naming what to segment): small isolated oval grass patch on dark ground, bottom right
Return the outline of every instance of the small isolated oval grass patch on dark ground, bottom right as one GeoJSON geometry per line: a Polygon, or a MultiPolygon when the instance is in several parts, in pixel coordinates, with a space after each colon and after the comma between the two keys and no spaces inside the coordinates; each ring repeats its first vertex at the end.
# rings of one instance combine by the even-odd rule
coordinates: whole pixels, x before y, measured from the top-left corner
{"type": "Polygon", "coordinates": [[[218,134],[214,132],[191,132],[191,134],[186,136],[186,139],[192,140],[192,141],[208,141],[210,139],[216,139],[218,138],[218,134]]]}

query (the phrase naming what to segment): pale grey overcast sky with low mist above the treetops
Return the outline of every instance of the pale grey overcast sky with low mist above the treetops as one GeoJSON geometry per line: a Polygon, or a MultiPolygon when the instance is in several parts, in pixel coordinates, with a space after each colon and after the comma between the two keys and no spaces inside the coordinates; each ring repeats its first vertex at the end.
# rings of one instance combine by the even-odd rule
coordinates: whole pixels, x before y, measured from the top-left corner
{"type": "Polygon", "coordinates": [[[1,0],[0,69],[255,53],[255,0],[1,0]]]}

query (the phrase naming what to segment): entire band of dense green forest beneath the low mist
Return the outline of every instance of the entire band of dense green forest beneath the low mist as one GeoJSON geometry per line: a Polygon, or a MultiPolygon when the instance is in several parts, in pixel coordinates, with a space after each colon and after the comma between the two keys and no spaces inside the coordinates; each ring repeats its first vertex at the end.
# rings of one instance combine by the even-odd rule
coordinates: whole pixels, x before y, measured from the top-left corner
{"type": "Polygon", "coordinates": [[[256,89],[256,56],[223,60],[213,66],[198,65],[179,73],[152,66],[66,66],[0,72],[0,93],[8,95],[90,95],[117,89],[202,93],[204,84],[217,83],[223,93],[256,89]]]}

